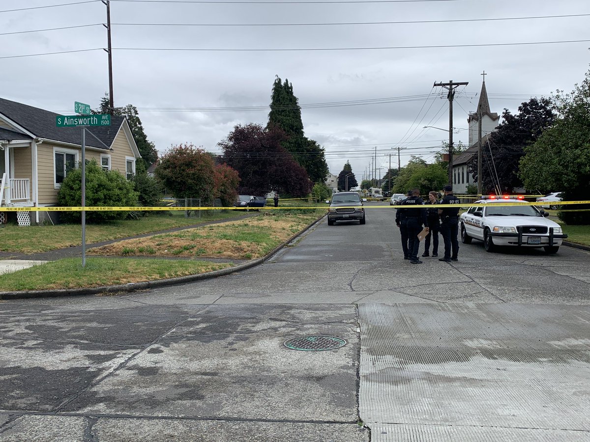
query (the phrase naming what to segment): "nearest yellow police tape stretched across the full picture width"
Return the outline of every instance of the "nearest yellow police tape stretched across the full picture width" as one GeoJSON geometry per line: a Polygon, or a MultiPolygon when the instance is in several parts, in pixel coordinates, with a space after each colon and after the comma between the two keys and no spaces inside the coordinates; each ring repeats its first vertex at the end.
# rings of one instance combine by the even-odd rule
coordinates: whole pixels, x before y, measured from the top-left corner
{"type": "MultiPolygon", "coordinates": [[[[519,201],[519,202],[503,202],[502,200],[491,200],[493,201],[494,206],[548,206],[549,202],[529,202],[529,201],[519,201]]],[[[473,207],[473,206],[480,206],[481,203],[461,203],[461,204],[429,204],[427,207],[423,207],[425,209],[448,209],[450,207],[473,207]]],[[[490,203],[486,203],[490,204],[490,203]]],[[[590,204],[590,200],[584,201],[560,201],[551,203],[552,206],[566,206],[572,204],[590,204]]],[[[339,206],[339,209],[346,209],[349,207],[358,207],[358,206],[339,206]]],[[[397,209],[399,206],[394,206],[397,209]]],[[[414,208],[416,206],[404,206],[406,209],[410,207],[414,208]]],[[[421,206],[422,207],[422,206],[421,206]]],[[[392,208],[392,206],[364,206],[365,209],[379,209],[379,208],[392,208]]],[[[313,206],[313,207],[250,207],[250,210],[293,210],[293,209],[307,209],[307,210],[314,210],[314,209],[328,209],[327,206],[313,206]]],[[[120,210],[130,211],[130,212],[149,212],[149,211],[158,211],[158,210],[247,210],[244,207],[123,207],[123,206],[77,206],[77,207],[0,207],[0,212],[80,212],[81,210],[85,210],[86,212],[117,212],[120,210]]],[[[578,212],[582,210],[588,209],[579,209],[573,211],[578,212]]],[[[559,209],[558,209],[559,211],[559,209]]]]}

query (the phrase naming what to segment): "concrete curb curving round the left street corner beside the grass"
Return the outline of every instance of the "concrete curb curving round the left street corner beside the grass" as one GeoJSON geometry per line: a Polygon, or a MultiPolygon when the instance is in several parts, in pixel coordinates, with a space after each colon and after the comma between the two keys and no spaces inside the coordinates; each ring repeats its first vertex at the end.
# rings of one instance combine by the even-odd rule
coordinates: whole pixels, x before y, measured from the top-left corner
{"type": "Polygon", "coordinates": [[[215,270],[207,273],[199,273],[198,275],[179,276],[178,278],[170,279],[158,279],[156,281],[145,281],[145,282],[132,282],[124,285],[110,285],[101,287],[91,288],[77,288],[77,289],[58,289],[58,290],[28,290],[21,292],[0,292],[0,301],[6,301],[8,299],[31,299],[31,298],[57,298],[61,296],[84,296],[84,295],[98,295],[100,293],[121,293],[121,292],[135,292],[146,289],[153,289],[177,284],[184,284],[194,281],[202,281],[203,279],[218,278],[219,276],[230,275],[231,273],[241,272],[253,268],[266,262],[278,253],[284,246],[293,242],[294,239],[303,235],[307,230],[311,229],[317,223],[319,223],[326,215],[320,216],[309,226],[305,227],[301,232],[296,233],[287,239],[284,243],[277,246],[277,248],[268,252],[262,258],[257,258],[245,262],[243,264],[228,267],[227,269],[215,270]]]}

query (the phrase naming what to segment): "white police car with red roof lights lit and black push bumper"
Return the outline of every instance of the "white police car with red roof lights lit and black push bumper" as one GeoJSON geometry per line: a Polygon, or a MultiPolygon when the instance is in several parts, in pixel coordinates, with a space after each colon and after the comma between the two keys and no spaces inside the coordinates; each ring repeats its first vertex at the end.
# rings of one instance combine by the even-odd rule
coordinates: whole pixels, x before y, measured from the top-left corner
{"type": "Polygon", "coordinates": [[[488,252],[496,246],[517,246],[542,247],[547,253],[557,253],[563,238],[568,238],[561,226],[534,206],[499,205],[516,202],[519,200],[476,201],[460,216],[461,241],[470,244],[472,239],[481,240],[488,252]]]}

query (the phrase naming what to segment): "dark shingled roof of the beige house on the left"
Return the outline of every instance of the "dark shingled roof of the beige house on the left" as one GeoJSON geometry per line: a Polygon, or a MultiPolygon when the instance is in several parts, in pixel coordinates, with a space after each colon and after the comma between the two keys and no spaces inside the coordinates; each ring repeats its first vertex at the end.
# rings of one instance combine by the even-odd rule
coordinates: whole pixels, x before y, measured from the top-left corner
{"type": "MultiPolygon", "coordinates": [[[[46,138],[47,140],[81,145],[80,127],[55,127],[55,117],[58,115],[38,107],[0,98],[0,117],[4,116],[8,118],[24,129],[24,131],[33,134],[35,137],[46,138]]],[[[125,117],[112,116],[110,126],[87,127],[87,129],[106,144],[106,146],[110,147],[117,133],[119,133],[124,120],[125,117]]],[[[8,132],[13,131],[8,130],[8,132]]],[[[0,138],[3,137],[0,136],[0,138]]],[[[106,147],[92,136],[86,137],[86,145],[107,150],[106,147]]]]}

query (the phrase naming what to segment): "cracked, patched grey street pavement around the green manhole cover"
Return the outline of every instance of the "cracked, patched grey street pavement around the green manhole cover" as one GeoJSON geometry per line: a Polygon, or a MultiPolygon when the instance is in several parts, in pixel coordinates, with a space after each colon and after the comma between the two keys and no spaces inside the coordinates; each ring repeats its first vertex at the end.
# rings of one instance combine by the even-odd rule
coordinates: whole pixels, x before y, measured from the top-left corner
{"type": "Polygon", "coordinates": [[[241,273],[0,301],[0,441],[590,440],[590,253],[410,265],[377,204],[241,273]]]}

